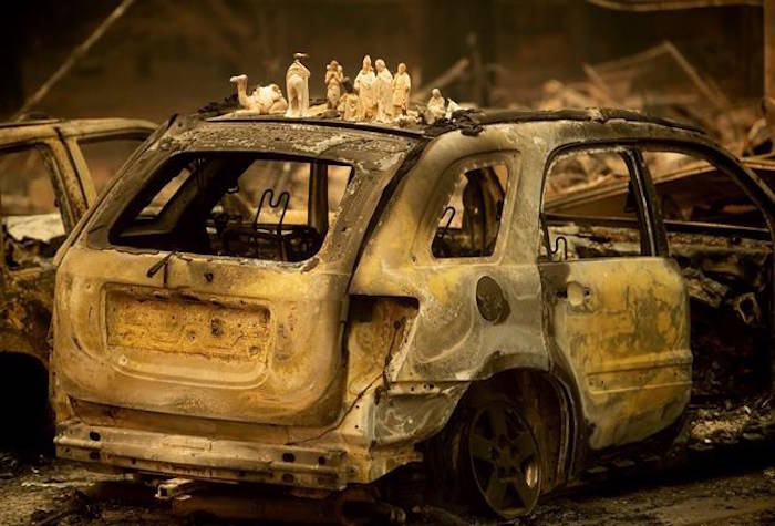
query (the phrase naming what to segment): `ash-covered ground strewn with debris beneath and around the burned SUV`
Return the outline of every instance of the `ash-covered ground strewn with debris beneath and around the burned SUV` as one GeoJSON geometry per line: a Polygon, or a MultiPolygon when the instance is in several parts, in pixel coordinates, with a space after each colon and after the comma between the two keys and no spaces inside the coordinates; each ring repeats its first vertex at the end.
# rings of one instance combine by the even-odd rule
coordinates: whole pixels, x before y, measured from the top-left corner
{"type": "MultiPolygon", "coordinates": [[[[516,524],[775,524],[775,434],[769,401],[703,408],[691,419],[681,442],[664,456],[600,465],[576,487],[545,498],[530,517],[516,524]]],[[[203,513],[186,515],[180,506],[153,495],[152,487],[130,476],[95,474],[46,455],[0,454],[0,501],[6,503],[0,508],[2,525],[271,524],[260,516],[235,522],[203,513]]],[[[410,526],[496,524],[430,506],[405,512],[410,526]]],[[[335,524],[333,516],[317,516],[335,524]]]]}

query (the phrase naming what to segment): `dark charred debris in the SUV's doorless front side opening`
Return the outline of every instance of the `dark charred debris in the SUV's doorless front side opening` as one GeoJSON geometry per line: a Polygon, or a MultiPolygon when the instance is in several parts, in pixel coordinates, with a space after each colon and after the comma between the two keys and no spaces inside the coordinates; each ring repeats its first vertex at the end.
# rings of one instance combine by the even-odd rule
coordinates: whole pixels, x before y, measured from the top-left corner
{"type": "Polygon", "coordinates": [[[767,381],[767,268],[765,241],[671,235],[692,300],[695,396],[743,399],[767,381]]]}

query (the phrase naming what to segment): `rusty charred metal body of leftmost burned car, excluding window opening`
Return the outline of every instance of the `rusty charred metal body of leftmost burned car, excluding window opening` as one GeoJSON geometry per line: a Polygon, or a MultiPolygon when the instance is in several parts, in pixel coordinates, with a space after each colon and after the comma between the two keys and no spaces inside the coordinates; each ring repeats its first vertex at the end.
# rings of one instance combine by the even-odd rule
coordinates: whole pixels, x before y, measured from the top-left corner
{"type": "MultiPolygon", "coordinates": [[[[96,200],[80,143],[142,140],[155,127],[146,121],[126,118],[52,118],[0,124],[0,155],[22,149],[41,154],[66,234],[96,200]]],[[[0,178],[13,175],[0,173],[0,178]]],[[[0,204],[0,217],[8,214],[0,204]]],[[[0,352],[29,354],[44,368],[49,367],[46,334],[54,292],[52,259],[63,240],[64,236],[14,239],[6,229],[0,231],[0,352]]]]}

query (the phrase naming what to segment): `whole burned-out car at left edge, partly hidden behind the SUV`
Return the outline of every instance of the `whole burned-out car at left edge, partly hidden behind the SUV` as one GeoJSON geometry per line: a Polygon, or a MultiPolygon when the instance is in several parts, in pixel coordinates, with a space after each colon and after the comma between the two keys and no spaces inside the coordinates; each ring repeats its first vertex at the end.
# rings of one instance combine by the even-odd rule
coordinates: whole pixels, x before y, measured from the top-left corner
{"type": "Polygon", "coordinates": [[[52,258],[153,130],[124,118],[0,123],[0,400],[10,405],[8,421],[31,436],[45,419],[52,258]]]}

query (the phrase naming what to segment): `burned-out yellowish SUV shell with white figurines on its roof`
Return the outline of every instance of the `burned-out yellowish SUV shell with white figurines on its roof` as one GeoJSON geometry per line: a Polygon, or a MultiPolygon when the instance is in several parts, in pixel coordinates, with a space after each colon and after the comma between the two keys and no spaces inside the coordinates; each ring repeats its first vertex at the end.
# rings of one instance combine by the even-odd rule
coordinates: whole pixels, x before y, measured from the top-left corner
{"type": "Polygon", "coordinates": [[[659,447],[681,427],[692,351],[650,152],[742,188],[772,276],[772,190],[683,125],[609,110],[416,128],[174,118],[69,238],[58,455],[319,491],[390,492],[416,470],[443,502],[514,517],[602,455],[659,447]],[[610,252],[574,244],[550,205],[551,182],[598,154],[629,181],[620,217],[599,217],[627,234],[610,252]]]}

